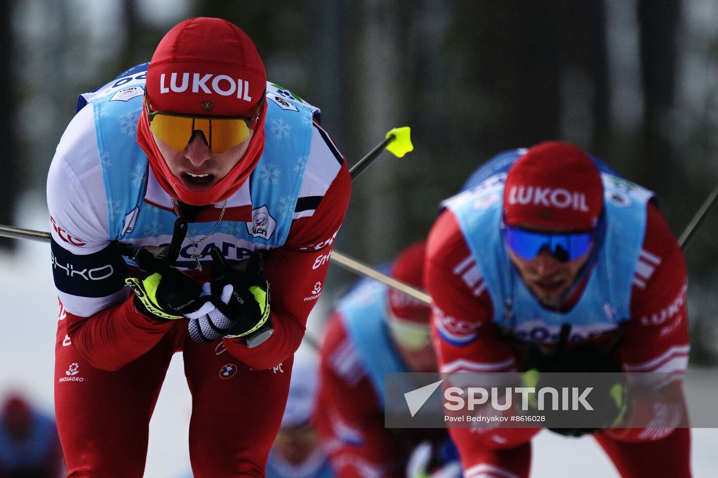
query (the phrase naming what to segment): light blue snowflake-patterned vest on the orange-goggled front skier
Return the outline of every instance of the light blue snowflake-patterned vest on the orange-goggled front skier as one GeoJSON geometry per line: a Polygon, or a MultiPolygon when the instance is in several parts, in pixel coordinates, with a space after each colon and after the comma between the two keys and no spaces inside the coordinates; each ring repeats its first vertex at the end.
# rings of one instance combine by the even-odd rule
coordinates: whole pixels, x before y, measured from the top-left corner
{"type": "MultiPolygon", "coordinates": [[[[78,109],[88,101],[94,108],[107,199],[108,239],[131,245],[167,245],[177,216],[144,201],[146,188],[159,184],[136,142],[145,75],[146,64],[131,68],[113,82],[82,95],[78,109]]],[[[252,250],[281,247],[289,234],[309,157],[312,116],[318,115],[318,110],[270,83],[266,95],[264,153],[248,179],[252,221],[220,222],[213,234],[197,246],[197,253],[207,263],[211,262],[212,245],[218,246],[229,261],[241,261],[252,250]]],[[[202,238],[215,224],[215,220],[190,223],[175,266],[196,266],[190,258],[194,253],[190,238],[202,238]]],[[[125,260],[134,266],[134,261],[125,260]]]]}

